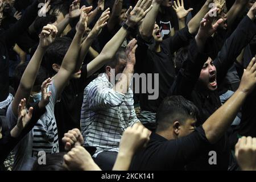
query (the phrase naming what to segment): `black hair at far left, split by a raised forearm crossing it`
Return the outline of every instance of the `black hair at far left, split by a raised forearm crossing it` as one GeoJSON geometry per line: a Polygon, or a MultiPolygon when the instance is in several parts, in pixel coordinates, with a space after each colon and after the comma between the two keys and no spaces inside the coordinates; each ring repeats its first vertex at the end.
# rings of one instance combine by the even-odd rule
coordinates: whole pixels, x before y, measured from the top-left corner
{"type": "MultiPolygon", "coordinates": [[[[25,71],[25,69],[27,68],[27,65],[28,65],[29,62],[26,62],[26,63],[23,63],[23,64],[19,64],[15,71],[14,71],[14,90],[17,91],[18,90],[18,87],[19,87],[19,83],[20,83],[20,80],[22,78],[22,75],[25,71]]],[[[41,85],[42,83],[47,79],[49,78],[49,73],[48,71],[46,70],[46,68],[44,67],[40,67],[39,68],[39,71],[38,71],[38,75],[36,75],[36,80],[35,80],[35,84],[34,84],[34,87],[33,87],[33,90],[35,92],[39,92],[41,90],[41,85]]]]}

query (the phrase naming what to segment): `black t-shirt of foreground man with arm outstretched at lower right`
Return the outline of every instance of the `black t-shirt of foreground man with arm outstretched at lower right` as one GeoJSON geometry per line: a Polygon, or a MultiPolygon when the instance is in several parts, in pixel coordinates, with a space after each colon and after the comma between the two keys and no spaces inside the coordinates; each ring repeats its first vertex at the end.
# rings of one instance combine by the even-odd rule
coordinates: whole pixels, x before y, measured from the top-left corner
{"type": "Polygon", "coordinates": [[[131,170],[184,170],[193,159],[200,156],[209,142],[202,126],[186,137],[167,140],[152,133],[147,147],[135,154],[131,170]]]}

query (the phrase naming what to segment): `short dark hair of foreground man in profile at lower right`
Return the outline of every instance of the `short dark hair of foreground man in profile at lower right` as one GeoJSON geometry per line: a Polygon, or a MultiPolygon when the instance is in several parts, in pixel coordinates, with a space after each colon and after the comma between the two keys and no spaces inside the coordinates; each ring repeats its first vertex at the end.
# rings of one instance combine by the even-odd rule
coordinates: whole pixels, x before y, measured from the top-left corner
{"type": "Polygon", "coordinates": [[[157,131],[164,131],[174,121],[179,121],[184,124],[187,119],[196,119],[199,115],[199,110],[191,102],[182,96],[171,96],[164,98],[162,104],[156,112],[157,131]]]}

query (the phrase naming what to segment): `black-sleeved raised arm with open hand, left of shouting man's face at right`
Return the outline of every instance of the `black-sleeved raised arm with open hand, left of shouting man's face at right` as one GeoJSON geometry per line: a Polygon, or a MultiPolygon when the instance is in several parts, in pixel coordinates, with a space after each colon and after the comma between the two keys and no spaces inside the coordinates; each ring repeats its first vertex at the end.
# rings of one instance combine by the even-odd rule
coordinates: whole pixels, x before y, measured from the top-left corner
{"type": "Polygon", "coordinates": [[[207,48],[205,44],[223,22],[222,19],[219,19],[215,24],[212,24],[214,17],[210,14],[217,11],[217,8],[210,10],[201,20],[199,32],[189,46],[188,59],[184,61],[184,67],[180,69],[169,95],[183,96],[189,99],[200,76],[201,69],[208,59],[208,50],[205,49],[207,48]]]}

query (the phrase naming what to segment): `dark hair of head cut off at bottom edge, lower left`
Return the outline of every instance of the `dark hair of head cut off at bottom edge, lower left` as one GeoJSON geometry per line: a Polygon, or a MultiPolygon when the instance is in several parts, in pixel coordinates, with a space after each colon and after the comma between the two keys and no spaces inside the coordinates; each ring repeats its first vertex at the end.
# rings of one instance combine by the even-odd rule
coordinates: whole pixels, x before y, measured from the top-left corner
{"type": "Polygon", "coordinates": [[[67,154],[66,152],[60,152],[55,154],[46,155],[46,164],[39,164],[38,159],[35,160],[32,171],[68,171],[66,167],[63,166],[64,159],[63,156],[67,154]]]}

